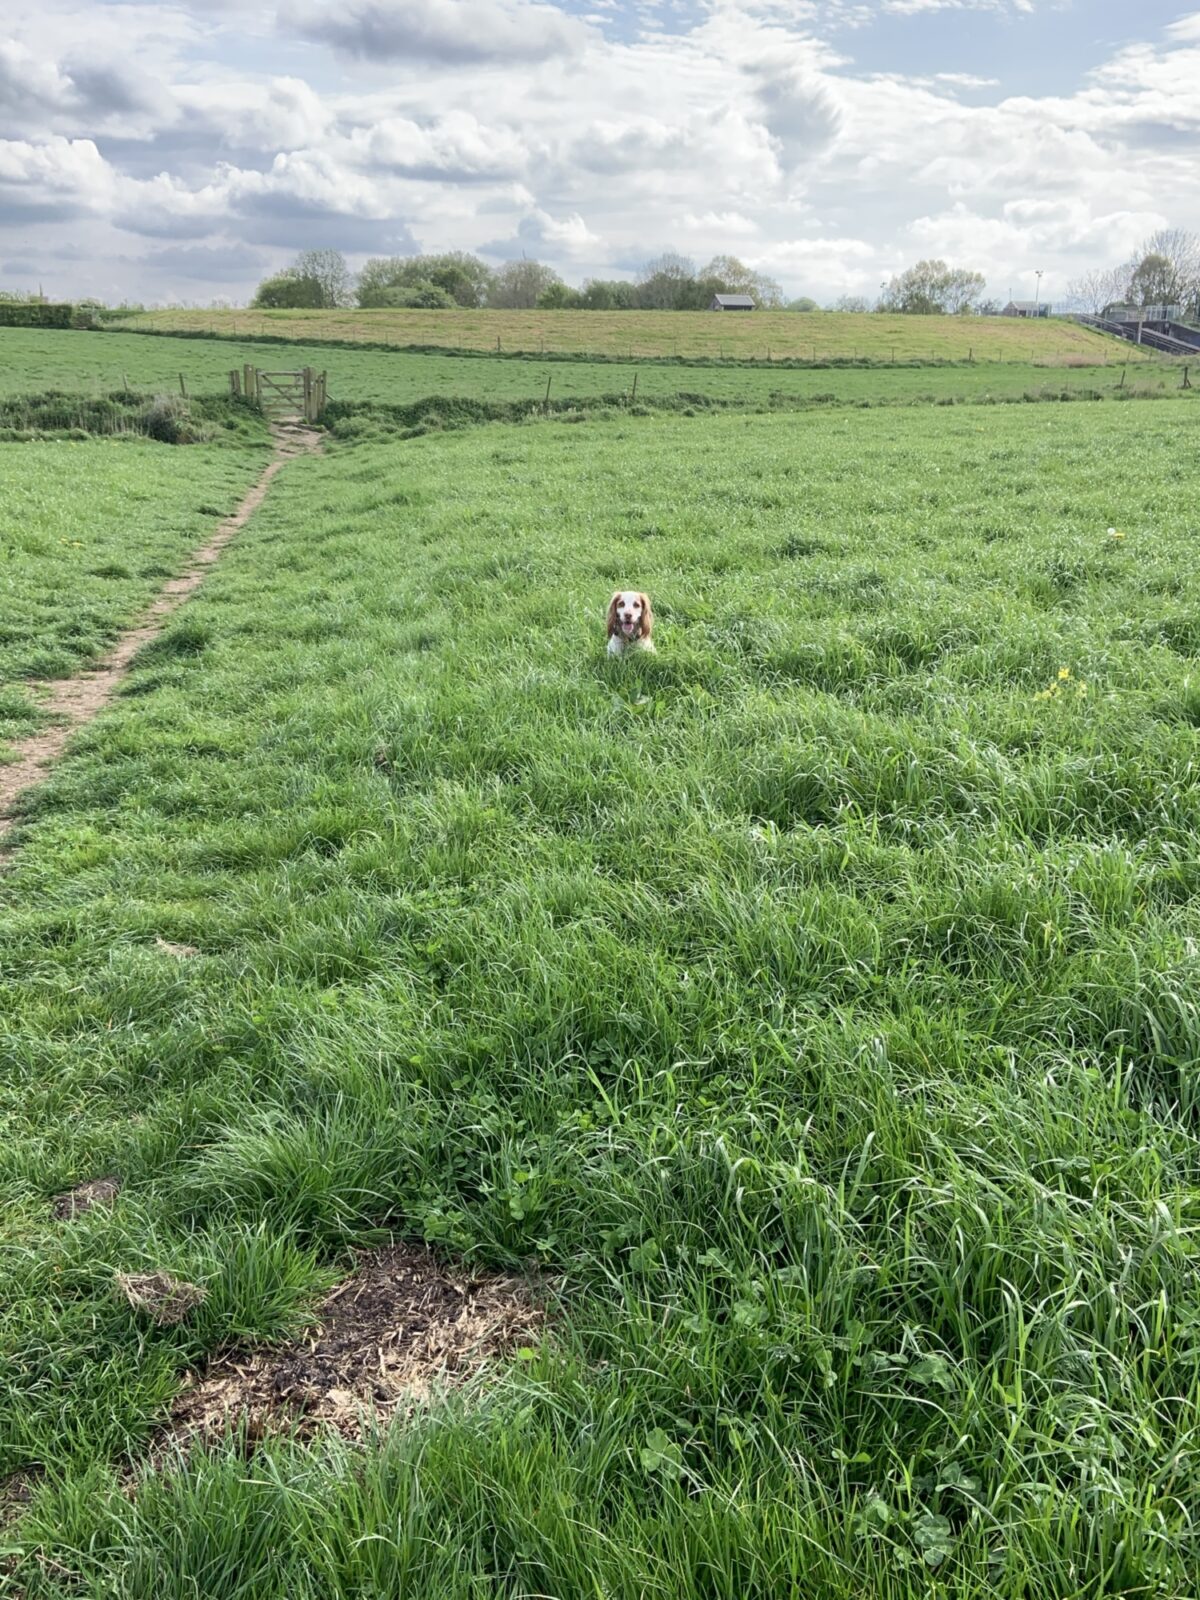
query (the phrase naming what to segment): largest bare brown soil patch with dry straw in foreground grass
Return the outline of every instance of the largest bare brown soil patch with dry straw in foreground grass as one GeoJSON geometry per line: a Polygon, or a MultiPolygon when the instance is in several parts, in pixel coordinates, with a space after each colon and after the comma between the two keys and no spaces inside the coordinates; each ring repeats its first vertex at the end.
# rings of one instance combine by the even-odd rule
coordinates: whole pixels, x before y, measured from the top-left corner
{"type": "Polygon", "coordinates": [[[160,1443],[334,1429],[358,1438],[438,1387],[533,1342],[544,1323],[523,1278],[470,1275],[427,1250],[394,1245],[360,1258],[310,1333],[283,1349],[229,1355],[194,1374],[160,1443]]]}

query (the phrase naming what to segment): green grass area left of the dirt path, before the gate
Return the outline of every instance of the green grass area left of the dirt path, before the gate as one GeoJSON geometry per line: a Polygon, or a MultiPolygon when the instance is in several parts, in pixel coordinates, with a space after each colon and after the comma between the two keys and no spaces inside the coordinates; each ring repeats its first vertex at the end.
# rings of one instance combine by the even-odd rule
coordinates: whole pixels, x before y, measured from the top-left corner
{"type": "Polygon", "coordinates": [[[29,678],[78,672],[258,475],[251,448],[142,440],[0,446],[0,741],[42,718],[29,678]]]}

